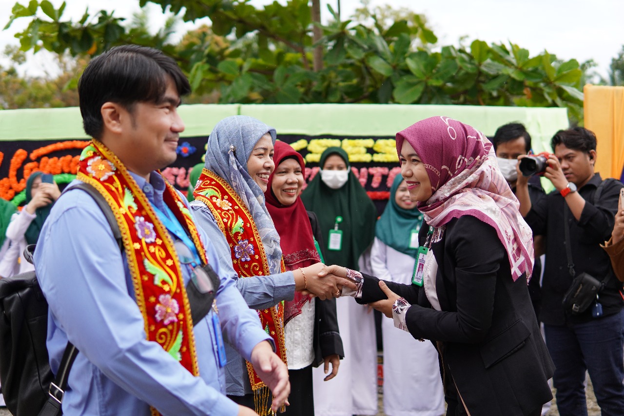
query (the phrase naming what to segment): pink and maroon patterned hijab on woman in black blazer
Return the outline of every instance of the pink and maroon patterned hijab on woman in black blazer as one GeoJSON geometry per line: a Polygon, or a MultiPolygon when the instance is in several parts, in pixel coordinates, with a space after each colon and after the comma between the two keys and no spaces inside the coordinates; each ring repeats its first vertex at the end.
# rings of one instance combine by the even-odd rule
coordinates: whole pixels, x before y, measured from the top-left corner
{"type": "Polygon", "coordinates": [[[481,132],[449,117],[430,117],[396,134],[397,153],[407,140],[424,163],[432,196],[419,202],[427,224],[439,227],[472,215],[491,225],[507,250],[514,281],[533,272],[533,237],[520,204],[499,171],[481,132]]]}

